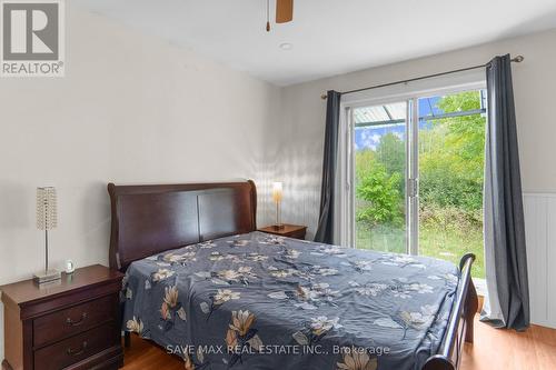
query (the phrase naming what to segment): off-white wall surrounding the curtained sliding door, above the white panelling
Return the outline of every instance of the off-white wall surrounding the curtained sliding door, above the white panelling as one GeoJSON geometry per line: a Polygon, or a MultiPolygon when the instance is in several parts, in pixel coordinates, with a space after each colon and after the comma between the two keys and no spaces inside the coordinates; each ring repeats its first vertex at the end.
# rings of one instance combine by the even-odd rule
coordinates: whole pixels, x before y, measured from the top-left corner
{"type": "Polygon", "coordinates": [[[276,174],[284,179],[288,191],[284,219],[308,224],[309,237],[312,237],[320,201],[326,113],[322,93],[480,64],[503,53],[525,56],[525,62],[514,64],[524,191],[556,191],[555,44],[556,30],[553,30],[284,88],[284,120],[278,132],[281,133],[280,166],[276,174]]]}

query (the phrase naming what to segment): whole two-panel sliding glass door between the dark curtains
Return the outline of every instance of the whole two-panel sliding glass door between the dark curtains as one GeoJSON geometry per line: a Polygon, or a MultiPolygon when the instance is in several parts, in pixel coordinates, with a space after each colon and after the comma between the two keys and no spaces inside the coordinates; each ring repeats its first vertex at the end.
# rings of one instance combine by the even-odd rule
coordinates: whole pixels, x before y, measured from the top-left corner
{"type": "Polygon", "coordinates": [[[353,234],[360,249],[483,267],[485,93],[471,90],[349,109],[353,234]]]}

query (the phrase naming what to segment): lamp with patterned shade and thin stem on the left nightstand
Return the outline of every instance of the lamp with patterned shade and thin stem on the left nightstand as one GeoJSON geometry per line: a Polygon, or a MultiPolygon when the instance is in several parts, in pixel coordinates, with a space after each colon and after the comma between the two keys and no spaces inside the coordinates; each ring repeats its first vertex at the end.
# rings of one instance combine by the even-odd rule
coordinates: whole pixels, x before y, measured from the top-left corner
{"type": "Polygon", "coordinates": [[[33,280],[41,284],[59,280],[60,271],[48,268],[48,230],[58,226],[56,188],[37,188],[37,229],[44,230],[44,271],[37,272],[33,280]]]}

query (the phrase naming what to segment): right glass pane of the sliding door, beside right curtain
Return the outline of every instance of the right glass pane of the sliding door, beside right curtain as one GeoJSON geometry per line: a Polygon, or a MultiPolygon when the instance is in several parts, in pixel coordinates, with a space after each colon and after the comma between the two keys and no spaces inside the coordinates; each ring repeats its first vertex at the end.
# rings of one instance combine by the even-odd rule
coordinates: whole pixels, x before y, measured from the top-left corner
{"type": "Polygon", "coordinates": [[[484,90],[419,99],[418,253],[458,262],[477,256],[484,278],[484,90]]]}

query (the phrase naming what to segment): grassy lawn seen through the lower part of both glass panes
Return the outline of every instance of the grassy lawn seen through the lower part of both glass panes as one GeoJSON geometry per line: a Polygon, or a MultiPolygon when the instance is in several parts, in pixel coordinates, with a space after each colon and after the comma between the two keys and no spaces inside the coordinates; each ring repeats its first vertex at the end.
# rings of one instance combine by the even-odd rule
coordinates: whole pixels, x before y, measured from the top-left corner
{"type": "MultiPolygon", "coordinates": [[[[370,228],[357,222],[356,246],[359,249],[379,251],[406,252],[405,229],[378,226],[370,228]]],[[[457,224],[439,227],[423,223],[419,228],[419,254],[435,257],[459,264],[465,253],[475,253],[477,260],[473,266],[474,278],[485,278],[485,262],[483,251],[483,229],[466,228],[461,230],[457,224]]]]}

